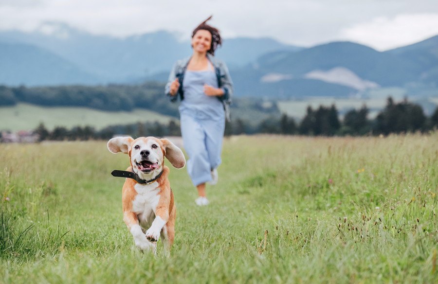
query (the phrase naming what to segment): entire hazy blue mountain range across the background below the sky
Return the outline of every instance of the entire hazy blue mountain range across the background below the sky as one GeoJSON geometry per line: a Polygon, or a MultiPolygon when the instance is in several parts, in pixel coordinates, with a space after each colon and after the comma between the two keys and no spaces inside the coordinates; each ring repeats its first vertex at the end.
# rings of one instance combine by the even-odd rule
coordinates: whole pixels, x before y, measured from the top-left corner
{"type": "MultiPolygon", "coordinates": [[[[46,23],[32,33],[0,32],[0,84],[165,81],[175,60],[190,54],[189,39],[166,31],[116,38],[46,23]]],[[[385,87],[411,94],[438,88],[438,35],[385,52],[353,42],[304,48],[271,38],[226,38],[216,56],[227,63],[236,96],[348,97],[385,87]]]]}

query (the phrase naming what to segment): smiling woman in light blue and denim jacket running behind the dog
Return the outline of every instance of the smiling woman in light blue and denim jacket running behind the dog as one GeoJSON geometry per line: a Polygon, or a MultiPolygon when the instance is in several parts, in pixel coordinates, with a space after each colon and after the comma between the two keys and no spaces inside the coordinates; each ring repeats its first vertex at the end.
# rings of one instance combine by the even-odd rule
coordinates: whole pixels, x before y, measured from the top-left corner
{"type": "Polygon", "coordinates": [[[187,171],[198,190],[195,202],[199,206],[209,203],[205,183],[218,181],[225,119],[230,119],[233,93],[226,65],[213,57],[222,39],[218,29],[206,24],[209,19],[193,31],[193,54],[175,63],[165,87],[171,101],[181,99],[181,133],[189,158],[187,171]]]}

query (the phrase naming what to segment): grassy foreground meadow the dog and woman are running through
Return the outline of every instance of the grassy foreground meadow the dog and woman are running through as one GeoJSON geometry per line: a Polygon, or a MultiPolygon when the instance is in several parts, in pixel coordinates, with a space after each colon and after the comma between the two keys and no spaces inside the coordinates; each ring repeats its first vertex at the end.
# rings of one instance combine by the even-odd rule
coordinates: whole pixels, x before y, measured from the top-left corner
{"type": "Polygon", "coordinates": [[[126,155],[0,144],[0,283],[437,283],[437,141],[228,138],[209,206],[171,170],[168,258],[133,247],[110,176],[126,155]]]}

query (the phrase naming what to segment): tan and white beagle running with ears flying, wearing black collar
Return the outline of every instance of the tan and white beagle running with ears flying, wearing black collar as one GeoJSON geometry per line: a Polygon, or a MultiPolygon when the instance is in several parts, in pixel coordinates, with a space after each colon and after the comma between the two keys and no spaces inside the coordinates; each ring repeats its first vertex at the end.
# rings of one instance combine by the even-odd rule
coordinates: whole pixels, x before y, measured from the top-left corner
{"type": "Polygon", "coordinates": [[[166,252],[175,236],[176,206],[168,179],[169,168],[164,157],[177,169],[185,165],[180,148],[167,139],[155,137],[115,137],[107,144],[112,153],[129,155],[127,171],[113,171],[116,177],[127,177],[122,189],[123,220],[134,237],[135,246],[156,254],[162,237],[166,252]]]}

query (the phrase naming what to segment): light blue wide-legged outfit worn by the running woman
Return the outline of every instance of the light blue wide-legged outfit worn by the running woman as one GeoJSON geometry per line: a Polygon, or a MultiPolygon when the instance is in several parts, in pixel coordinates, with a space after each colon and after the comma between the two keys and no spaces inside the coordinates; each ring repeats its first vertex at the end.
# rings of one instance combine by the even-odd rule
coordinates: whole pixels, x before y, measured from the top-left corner
{"type": "Polygon", "coordinates": [[[181,134],[188,155],[187,171],[195,186],[210,181],[211,170],[221,162],[225,111],[217,97],[204,93],[204,84],[218,88],[212,69],[209,62],[205,71],[185,72],[184,100],[179,106],[181,134]]]}

